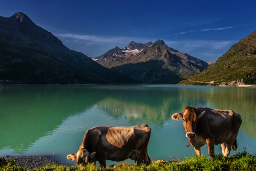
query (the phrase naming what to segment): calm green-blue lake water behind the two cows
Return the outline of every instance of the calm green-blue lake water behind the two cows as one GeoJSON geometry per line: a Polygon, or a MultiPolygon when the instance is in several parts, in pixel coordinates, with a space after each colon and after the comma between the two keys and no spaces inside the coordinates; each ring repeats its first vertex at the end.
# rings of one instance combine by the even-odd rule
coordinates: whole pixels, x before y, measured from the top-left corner
{"type": "MultiPolygon", "coordinates": [[[[0,86],[0,155],[54,156],[64,164],[94,126],[148,124],[148,155],[170,160],[195,155],[185,147],[182,121],[172,114],[187,106],[229,109],[242,117],[238,149],[256,153],[256,89],[162,85],[0,86]]],[[[221,153],[221,146],[215,146],[221,153]]],[[[207,146],[202,153],[208,156],[207,146]]],[[[231,151],[231,154],[235,152],[231,151]]],[[[131,161],[127,161],[131,162],[131,161]]],[[[107,165],[117,162],[107,161],[107,165]]]]}

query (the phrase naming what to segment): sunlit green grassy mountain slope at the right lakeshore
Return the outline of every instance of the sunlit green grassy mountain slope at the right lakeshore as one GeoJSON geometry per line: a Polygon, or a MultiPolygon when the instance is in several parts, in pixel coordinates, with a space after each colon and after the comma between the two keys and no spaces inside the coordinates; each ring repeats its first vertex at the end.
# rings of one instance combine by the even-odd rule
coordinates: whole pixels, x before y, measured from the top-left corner
{"type": "Polygon", "coordinates": [[[256,31],[241,39],[213,65],[179,84],[256,84],[256,31]]]}

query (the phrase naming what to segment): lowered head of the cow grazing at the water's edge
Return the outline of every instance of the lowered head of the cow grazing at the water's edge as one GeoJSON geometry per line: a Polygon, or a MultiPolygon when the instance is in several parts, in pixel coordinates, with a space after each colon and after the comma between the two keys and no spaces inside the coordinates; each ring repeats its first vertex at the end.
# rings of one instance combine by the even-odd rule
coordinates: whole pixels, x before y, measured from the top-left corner
{"type": "Polygon", "coordinates": [[[77,166],[82,167],[83,165],[86,165],[87,162],[89,162],[89,160],[92,159],[95,155],[96,152],[89,153],[86,148],[81,148],[76,154],[68,155],[67,159],[76,159],[77,166]]]}

